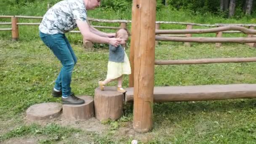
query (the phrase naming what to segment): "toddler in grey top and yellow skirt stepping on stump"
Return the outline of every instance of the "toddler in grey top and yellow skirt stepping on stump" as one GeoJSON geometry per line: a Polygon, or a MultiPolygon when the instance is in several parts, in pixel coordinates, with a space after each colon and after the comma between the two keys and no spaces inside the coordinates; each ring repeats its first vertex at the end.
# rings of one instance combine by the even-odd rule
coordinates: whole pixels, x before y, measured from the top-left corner
{"type": "Polygon", "coordinates": [[[131,74],[131,66],[127,54],[125,53],[125,45],[128,40],[129,32],[125,28],[121,28],[116,32],[116,38],[122,41],[117,47],[109,45],[109,62],[107,65],[107,78],[104,81],[99,81],[101,91],[104,91],[104,85],[117,80],[117,91],[125,93],[122,88],[123,75],[131,74]]]}

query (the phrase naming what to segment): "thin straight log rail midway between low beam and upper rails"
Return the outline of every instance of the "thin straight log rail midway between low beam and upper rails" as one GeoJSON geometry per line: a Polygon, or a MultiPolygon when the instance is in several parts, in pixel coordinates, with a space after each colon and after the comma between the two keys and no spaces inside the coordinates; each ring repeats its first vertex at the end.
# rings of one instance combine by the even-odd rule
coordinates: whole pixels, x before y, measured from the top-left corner
{"type": "Polygon", "coordinates": [[[239,63],[239,62],[256,62],[256,57],[252,57],[252,58],[219,58],[219,59],[188,59],[188,60],[155,60],[155,65],[215,64],[215,63],[239,63]]]}

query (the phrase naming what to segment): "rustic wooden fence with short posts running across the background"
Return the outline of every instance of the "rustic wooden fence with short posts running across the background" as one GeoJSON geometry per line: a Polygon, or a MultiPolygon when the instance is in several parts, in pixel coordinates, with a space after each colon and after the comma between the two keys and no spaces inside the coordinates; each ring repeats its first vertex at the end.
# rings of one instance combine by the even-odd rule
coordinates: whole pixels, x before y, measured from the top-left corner
{"type": "MultiPolygon", "coordinates": [[[[0,18],[8,18],[11,19],[11,22],[0,22],[0,25],[11,25],[11,28],[0,28],[0,31],[11,31],[12,32],[12,40],[19,39],[19,26],[20,25],[40,25],[40,23],[19,23],[19,19],[43,19],[42,16],[0,16],[0,18]]],[[[106,20],[106,19],[93,19],[88,18],[88,21],[95,22],[103,22],[103,23],[119,23],[120,27],[107,27],[107,26],[92,26],[99,29],[119,29],[121,27],[126,28],[128,23],[131,23],[129,20],[106,20]]],[[[221,43],[229,42],[229,43],[247,43],[251,47],[256,47],[256,43],[250,41],[250,39],[245,39],[243,37],[240,38],[224,38],[222,37],[223,33],[245,33],[248,34],[248,37],[256,37],[255,33],[249,34],[246,28],[242,28],[241,31],[238,27],[248,27],[251,30],[254,30],[256,24],[196,24],[196,23],[187,23],[187,22],[174,22],[174,21],[156,21],[155,22],[156,29],[156,44],[158,44],[158,40],[161,41],[177,41],[184,42],[185,45],[190,46],[190,42],[196,43],[212,43],[216,41],[216,47],[220,47],[221,43]],[[187,29],[176,29],[176,30],[160,30],[161,24],[182,24],[186,25],[187,29]],[[217,27],[212,29],[192,29],[193,26],[203,26],[203,27],[217,27]],[[229,27],[227,27],[229,26],[229,27]],[[235,27],[237,26],[237,27],[235,27]],[[234,30],[229,30],[232,27],[234,30]],[[216,33],[216,38],[200,38],[200,37],[192,37],[192,34],[201,34],[201,33],[216,33]],[[181,35],[182,34],[182,35],[181,35]]],[[[71,31],[71,33],[80,33],[80,31],[71,31]]],[[[92,43],[89,41],[84,41],[85,47],[92,47],[92,43]]]]}

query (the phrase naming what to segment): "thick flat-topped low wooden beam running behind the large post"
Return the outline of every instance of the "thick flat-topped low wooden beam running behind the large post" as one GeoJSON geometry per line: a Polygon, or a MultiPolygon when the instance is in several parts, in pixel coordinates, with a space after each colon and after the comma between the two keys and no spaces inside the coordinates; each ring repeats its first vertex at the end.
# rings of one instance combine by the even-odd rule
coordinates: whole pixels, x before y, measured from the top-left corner
{"type": "MultiPolygon", "coordinates": [[[[133,88],[126,88],[125,102],[133,101],[133,88]]],[[[256,84],[163,86],[154,88],[154,102],[208,101],[256,98],[256,84]]]]}

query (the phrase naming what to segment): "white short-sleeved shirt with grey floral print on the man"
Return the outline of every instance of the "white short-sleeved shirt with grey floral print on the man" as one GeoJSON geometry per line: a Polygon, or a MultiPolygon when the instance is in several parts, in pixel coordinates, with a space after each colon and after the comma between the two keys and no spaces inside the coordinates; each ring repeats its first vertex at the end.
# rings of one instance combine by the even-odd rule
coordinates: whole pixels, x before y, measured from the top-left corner
{"type": "Polygon", "coordinates": [[[63,34],[77,27],[76,20],[86,19],[87,11],[83,0],[62,0],[45,13],[39,30],[50,35],[63,34]]]}

